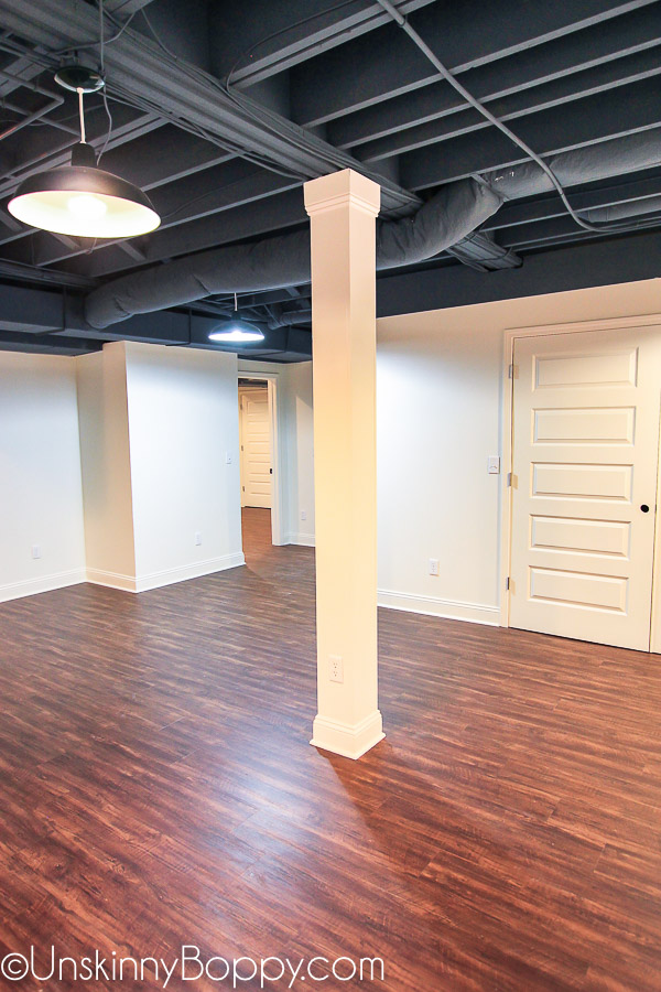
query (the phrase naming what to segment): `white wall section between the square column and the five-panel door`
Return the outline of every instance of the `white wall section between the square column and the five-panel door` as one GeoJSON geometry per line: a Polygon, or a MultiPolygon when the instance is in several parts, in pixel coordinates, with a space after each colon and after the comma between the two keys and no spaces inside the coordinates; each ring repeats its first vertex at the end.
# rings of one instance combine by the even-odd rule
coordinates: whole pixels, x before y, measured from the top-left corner
{"type": "Polygon", "coordinates": [[[379,594],[383,605],[494,621],[499,478],[487,457],[500,450],[502,339],[463,316],[379,323],[379,594]]]}

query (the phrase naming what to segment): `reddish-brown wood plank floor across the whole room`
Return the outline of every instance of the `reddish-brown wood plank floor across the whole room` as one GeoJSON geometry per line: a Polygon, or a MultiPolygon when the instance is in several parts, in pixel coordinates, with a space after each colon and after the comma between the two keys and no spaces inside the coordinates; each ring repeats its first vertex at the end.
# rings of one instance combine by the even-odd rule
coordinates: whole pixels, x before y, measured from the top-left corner
{"type": "MultiPolygon", "coordinates": [[[[314,552],[268,527],[246,513],[245,569],[0,606],[0,958],[188,944],[383,958],[326,992],[659,992],[661,658],[381,611],[387,738],[323,754],[314,552]]],[[[0,979],[69,986],[162,984],[0,979]]]]}

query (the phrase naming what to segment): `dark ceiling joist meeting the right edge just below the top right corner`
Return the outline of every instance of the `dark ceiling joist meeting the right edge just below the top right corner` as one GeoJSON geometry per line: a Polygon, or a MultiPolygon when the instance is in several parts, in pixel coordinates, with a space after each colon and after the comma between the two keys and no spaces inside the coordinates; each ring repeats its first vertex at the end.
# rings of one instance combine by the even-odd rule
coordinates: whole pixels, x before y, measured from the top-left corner
{"type": "MultiPolygon", "coordinates": [[[[498,100],[531,87],[543,86],[565,75],[615,63],[661,45],[658,7],[643,7],[624,17],[604,21],[585,32],[574,32],[509,58],[469,69],[462,83],[484,103],[498,100]]],[[[617,65],[611,68],[619,73],[617,65]]],[[[571,85],[571,83],[568,84],[571,85]]],[[[581,86],[581,79],[577,79],[581,86]]],[[[354,148],[395,131],[423,125],[465,109],[465,103],[445,80],[431,83],[402,96],[384,99],[328,123],[328,141],[354,148]]]]}

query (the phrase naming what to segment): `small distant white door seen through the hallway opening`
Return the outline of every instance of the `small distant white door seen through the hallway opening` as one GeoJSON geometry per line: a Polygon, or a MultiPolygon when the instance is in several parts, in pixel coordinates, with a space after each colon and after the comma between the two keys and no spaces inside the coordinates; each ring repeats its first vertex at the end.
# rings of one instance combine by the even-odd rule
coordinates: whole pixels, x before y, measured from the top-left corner
{"type": "Polygon", "coordinates": [[[241,506],[271,506],[269,391],[248,388],[241,400],[241,506]]]}

